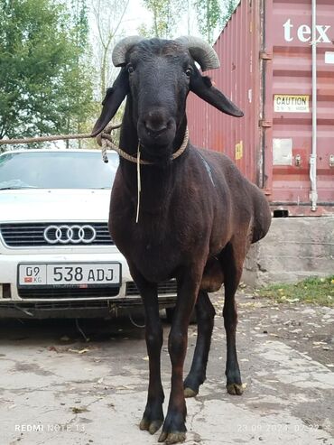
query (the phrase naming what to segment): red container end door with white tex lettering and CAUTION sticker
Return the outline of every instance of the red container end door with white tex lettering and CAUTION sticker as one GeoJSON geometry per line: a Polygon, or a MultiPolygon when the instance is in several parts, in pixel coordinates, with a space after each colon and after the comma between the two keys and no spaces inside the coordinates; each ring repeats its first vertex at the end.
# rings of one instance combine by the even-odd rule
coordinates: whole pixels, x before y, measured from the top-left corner
{"type": "Polygon", "coordinates": [[[264,189],[290,214],[334,203],[334,3],[317,1],[317,191],[311,211],[311,1],[265,2],[264,189]],[[289,208],[285,207],[289,206],[289,208]]]}

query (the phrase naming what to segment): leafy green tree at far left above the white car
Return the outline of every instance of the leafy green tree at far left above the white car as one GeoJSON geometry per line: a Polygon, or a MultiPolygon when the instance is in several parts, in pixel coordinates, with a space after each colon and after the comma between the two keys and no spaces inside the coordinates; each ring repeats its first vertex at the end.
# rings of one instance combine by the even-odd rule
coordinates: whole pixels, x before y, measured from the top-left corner
{"type": "Polygon", "coordinates": [[[84,0],[0,0],[0,138],[80,130],[93,107],[87,35],[84,0]]]}

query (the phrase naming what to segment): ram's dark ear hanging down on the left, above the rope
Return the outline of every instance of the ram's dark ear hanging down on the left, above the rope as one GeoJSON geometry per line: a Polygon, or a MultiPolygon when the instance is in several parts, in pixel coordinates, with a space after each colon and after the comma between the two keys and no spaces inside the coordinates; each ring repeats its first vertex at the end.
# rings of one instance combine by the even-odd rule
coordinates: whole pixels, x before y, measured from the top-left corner
{"type": "Polygon", "coordinates": [[[118,74],[113,86],[107,89],[106,97],[104,98],[102,105],[102,111],[94,125],[91,133],[92,137],[101,133],[101,131],[109,124],[111,119],[116,115],[117,109],[125,99],[125,96],[129,92],[129,78],[125,68],[122,68],[118,74]]]}

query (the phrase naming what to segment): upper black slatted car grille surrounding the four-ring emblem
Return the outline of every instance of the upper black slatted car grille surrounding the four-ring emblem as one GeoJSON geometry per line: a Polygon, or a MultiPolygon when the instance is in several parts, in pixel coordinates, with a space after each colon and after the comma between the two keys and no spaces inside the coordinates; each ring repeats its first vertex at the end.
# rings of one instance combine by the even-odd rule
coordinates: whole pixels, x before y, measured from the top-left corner
{"type": "Polygon", "coordinates": [[[109,235],[107,223],[14,223],[1,224],[0,233],[8,247],[36,247],[36,246],[110,246],[113,241],[109,235]],[[44,231],[47,227],[93,227],[96,231],[96,237],[93,241],[79,241],[66,244],[52,239],[52,243],[48,242],[44,237],[44,231]]]}

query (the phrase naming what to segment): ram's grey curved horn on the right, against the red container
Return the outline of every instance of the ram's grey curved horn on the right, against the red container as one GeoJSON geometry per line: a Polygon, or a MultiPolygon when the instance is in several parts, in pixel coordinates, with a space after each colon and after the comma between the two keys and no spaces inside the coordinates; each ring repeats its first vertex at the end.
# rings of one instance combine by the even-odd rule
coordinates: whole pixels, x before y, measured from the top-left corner
{"type": "Polygon", "coordinates": [[[199,62],[202,71],[215,70],[220,63],[216,51],[199,37],[184,35],[175,39],[181,42],[189,51],[194,60],[199,62]]]}

